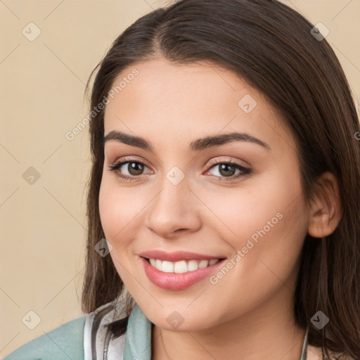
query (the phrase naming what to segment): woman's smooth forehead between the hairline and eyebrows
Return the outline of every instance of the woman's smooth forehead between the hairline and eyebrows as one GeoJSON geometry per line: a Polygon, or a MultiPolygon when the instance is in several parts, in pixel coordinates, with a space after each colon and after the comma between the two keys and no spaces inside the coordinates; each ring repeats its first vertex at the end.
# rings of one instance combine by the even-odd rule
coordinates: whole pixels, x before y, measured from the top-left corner
{"type": "Polygon", "coordinates": [[[242,131],[267,138],[267,143],[290,136],[259,91],[207,61],[184,65],[160,58],[134,63],[117,76],[112,91],[105,108],[105,134],[117,129],[180,141],[191,135],[242,131]]]}

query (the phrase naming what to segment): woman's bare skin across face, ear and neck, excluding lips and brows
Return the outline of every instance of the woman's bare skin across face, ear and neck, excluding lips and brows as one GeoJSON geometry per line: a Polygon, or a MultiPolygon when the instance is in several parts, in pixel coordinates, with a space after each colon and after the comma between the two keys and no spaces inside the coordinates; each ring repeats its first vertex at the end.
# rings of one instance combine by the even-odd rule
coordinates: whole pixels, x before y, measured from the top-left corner
{"type": "Polygon", "coordinates": [[[154,153],[106,141],[99,209],[117,272],[155,324],[152,359],[300,359],[305,329],[293,314],[299,256],[307,233],[326,236],[340,221],[335,178],[324,174],[324,187],[334,190],[326,203],[305,202],[290,129],[233,72],[159,58],[132,64],[114,84],[134,68],[139,75],[106,105],[105,135],[117,130],[141,136],[154,153]],[[250,113],[238,105],[246,94],[257,102],[250,113]],[[188,148],[195,139],[233,131],[255,136],[270,150],[245,141],[198,152],[188,148]],[[139,175],[128,164],[118,170],[133,181],[108,170],[124,157],[146,165],[139,175]],[[232,160],[252,172],[226,181],[210,160],[232,160]],[[166,177],[174,166],[185,176],[176,186],[166,177]],[[146,250],[231,259],[279,212],[282,219],[215,285],[205,278],[184,290],[166,290],[143,270],[139,254],[146,250]],[[173,311],[184,318],[177,329],[167,322],[173,311]]]}

